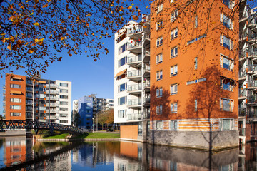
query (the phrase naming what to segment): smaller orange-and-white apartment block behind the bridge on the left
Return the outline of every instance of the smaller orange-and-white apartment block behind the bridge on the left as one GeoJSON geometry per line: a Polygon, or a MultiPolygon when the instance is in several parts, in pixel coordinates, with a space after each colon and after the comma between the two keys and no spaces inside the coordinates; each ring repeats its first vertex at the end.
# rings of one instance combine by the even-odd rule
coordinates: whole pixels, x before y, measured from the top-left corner
{"type": "Polygon", "coordinates": [[[6,74],[6,120],[71,125],[71,82],[6,74]]]}

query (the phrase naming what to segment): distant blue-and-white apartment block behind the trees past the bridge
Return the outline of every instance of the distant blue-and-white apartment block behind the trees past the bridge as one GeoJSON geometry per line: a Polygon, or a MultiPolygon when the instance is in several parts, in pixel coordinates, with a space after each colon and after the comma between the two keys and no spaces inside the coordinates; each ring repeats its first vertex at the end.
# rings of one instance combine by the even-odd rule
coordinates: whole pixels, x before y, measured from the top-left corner
{"type": "MultiPolygon", "coordinates": [[[[81,128],[91,129],[95,115],[98,115],[101,111],[114,108],[114,100],[109,98],[96,98],[95,94],[87,95],[78,100],[74,100],[74,111],[78,112],[81,116],[81,128]]],[[[97,117],[96,117],[97,118],[97,117]]],[[[96,130],[98,128],[96,127],[96,130]]]]}

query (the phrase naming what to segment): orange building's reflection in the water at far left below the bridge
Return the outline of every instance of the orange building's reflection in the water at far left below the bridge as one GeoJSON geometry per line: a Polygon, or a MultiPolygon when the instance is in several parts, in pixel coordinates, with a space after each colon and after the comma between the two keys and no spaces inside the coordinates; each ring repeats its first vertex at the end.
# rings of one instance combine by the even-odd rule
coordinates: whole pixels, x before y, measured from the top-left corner
{"type": "Polygon", "coordinates": [[[26,137],[6,137],[4,163],[7,167],[26,161],[26,137]]]}

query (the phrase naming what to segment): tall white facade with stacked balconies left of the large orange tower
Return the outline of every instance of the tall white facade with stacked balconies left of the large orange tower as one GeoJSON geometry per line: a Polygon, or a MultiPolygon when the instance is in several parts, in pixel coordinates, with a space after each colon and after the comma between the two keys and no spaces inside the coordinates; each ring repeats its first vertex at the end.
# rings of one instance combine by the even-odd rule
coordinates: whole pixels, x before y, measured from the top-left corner
{"type": "Polygon", "coordinates": [[[150,116],[150,30],[148,16],[115,33],[114,122],[121,139],[143,141],[150,116]],[[144,129],[143,129],[144,128],[144,129]]]}

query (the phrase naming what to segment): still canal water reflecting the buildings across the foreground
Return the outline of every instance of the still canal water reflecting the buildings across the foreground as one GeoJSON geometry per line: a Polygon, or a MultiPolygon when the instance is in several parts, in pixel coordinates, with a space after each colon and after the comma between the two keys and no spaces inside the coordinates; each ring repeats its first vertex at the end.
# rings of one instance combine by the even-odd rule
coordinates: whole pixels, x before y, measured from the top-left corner
{"type": "Polygon", "coordinates": [[[138,142],[0,139],[0,170],[257,170],[257,143],[201,152],[138,142]]]}

